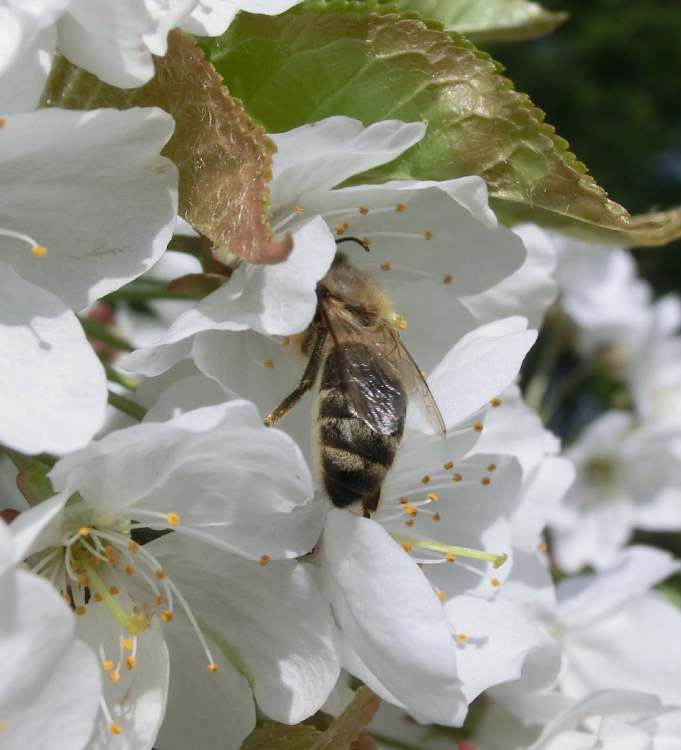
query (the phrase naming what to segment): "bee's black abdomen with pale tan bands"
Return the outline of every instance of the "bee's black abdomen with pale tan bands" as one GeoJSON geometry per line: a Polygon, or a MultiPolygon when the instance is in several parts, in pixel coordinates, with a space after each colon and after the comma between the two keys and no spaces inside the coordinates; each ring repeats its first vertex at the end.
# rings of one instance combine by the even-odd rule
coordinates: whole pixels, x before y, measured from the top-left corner
{"type": "MultiPolygon", "coordinates": [[[[348,347],[364,347],[349,344],[348,347]]],[[[346,396],[338,367],[337,353],[326,357],[319,389],[317,429],[320,445],[320,464],[324,486],[331,502],[338,507],[361,502],[365,511],[376,510],[381,485],[395,460],[404,432],[407,397],[402,384],[382,367],[378,358],[367,360],[372,369],[380,369],[380,379],[391,380],[393,409],[399,415],[395,430],[384,435],[373,430],[363,419],[355,416],[346,396]]]]}

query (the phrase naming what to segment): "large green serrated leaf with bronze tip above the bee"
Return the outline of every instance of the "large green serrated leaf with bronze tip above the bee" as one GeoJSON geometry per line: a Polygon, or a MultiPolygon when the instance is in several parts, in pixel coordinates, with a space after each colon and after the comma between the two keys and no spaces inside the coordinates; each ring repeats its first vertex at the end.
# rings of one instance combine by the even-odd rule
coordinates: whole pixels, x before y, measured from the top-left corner
{"type": "Polygon", "coordinates": [[[270,132],[331,115],[428,122],[420,143],[355,183],[477,174],[509,222],[522,214],[620,244],[658,244],[681,233],[671,214],[658,215],[654,231],[645,218],[632,223],[544,114],[470,41],[413,15],[367,14],[362,5],[334,0],[315,12],[241,13],[225,35],[203,44],[270,132]]]}

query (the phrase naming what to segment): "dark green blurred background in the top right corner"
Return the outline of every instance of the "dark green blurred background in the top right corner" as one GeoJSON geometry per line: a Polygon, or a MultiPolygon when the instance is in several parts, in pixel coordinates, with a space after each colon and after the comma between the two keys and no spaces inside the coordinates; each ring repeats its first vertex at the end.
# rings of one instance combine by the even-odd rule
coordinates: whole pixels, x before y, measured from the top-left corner
{"type": "MultiPolygon", "coordinates": [[[[520,91],[632,213],[681,204],[681,0],[544,0],[570,18],[494,45],[520,91]]],[[[681,241],[636,252],[658,293],[681,291],[681,241]]]]}

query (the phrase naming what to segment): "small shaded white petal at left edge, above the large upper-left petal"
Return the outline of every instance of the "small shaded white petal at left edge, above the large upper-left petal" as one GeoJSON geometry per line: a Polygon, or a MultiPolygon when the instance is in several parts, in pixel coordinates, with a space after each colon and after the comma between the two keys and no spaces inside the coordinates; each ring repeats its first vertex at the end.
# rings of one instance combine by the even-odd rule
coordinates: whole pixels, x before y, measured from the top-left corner
{"type": "MultiPolygon", "coordinates": [[[[3,26],[1,17],[2,8],[0,8],[0,29],[3,26]]],[[[3,115],[12,112],[27,112],[37,107],[47,75],[52,67],[56,44],[57,32],[54,27],[44,29],[2,75],[0,112],[3,115]]],[[[0,49],[3,46],[0,41],[0,49]]]]}

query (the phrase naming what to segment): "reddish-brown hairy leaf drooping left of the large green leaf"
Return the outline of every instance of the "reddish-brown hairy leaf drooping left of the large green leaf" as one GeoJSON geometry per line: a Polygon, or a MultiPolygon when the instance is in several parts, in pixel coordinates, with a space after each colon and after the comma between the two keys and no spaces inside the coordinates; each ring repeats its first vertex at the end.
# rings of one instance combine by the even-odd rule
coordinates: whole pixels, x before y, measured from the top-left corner
{"type": "Polygon", "coordinates": [[[180,215],[212,241],[218,260],[227,262],[230,253],[256,263],[284,260],[290,239],[276,240],[267,220],[274,144],[229,95],[191,37],[171,32],[168,53],[155,58],[155,66],[148,84],[123,90],[59,57],[43,104],[166,110],[175,132],[163,154],[178,167],[180,215]]]}

